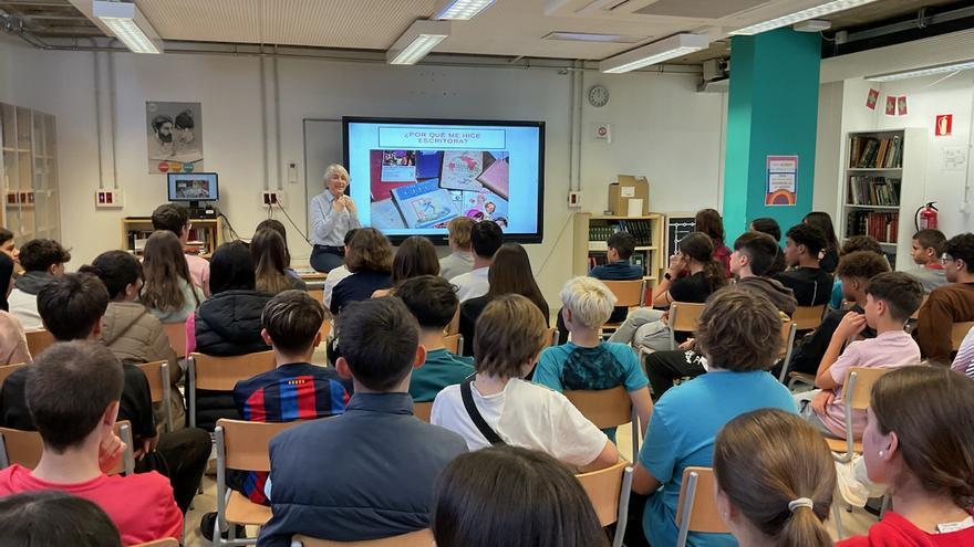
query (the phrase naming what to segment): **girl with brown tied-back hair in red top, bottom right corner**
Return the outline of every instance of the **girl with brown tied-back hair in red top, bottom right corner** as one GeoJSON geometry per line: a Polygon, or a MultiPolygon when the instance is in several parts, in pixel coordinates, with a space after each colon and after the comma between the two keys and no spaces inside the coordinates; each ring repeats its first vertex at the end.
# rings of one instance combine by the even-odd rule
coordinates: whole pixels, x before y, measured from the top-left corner
{"type": "Polygon", "coordinates": [[[892,509],[838,547],[974,545],[974,382],[939,367],[904,367],[877,381],[862,435],[869,480],[892,509]]]}

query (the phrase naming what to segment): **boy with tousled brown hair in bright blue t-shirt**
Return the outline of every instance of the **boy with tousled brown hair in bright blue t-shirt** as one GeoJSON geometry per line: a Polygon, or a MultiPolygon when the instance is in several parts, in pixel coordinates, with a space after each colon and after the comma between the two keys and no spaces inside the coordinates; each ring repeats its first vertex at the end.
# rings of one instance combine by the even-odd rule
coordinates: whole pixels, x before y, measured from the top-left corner
{"type": "MultiPolygon", "coordinates": [[[[656,401],[632,477],[633,492],[649,495],[642,533],[650,545],[676,541],[676,498],[683,470],[711,465],[714,436],[724,424],[761,408],[796,412],[791,393],[766,372],[779,350],[768,340],[779,339],[780,332],[781,317],[765,296],[727,287],[707,299],[696,344],[709,369],[656,401]]],[[[690,545],[736,543],[729,534],[692,532],[690,545]]]]}

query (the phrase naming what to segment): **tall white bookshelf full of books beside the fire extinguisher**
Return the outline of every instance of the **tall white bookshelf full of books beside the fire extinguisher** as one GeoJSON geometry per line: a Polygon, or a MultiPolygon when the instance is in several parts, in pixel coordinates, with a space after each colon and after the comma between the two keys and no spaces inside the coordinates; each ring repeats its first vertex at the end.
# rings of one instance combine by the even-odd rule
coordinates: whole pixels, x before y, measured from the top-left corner
{"type": "Polygon", "coordinates": [[[912,267],[913,213],[924,203],[925,159],[925,129],[849,133],[837,222],[842,240],[872,235],[897,270],[912,267]]]}

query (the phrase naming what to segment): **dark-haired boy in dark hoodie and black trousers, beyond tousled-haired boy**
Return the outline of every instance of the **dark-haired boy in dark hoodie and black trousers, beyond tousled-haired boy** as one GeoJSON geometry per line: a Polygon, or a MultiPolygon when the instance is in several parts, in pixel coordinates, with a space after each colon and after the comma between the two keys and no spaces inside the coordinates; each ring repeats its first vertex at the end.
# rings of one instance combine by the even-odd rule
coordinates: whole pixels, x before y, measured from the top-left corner
{"type": "MultiPolygon", "coordinates": [[[[731,273],[736,277],[734,286],[766,296],[780,313],[790,316],[796,306],[791,290],[766,277],[778,249],[770,235],[745,232],[734,241],[731,273]]],[[[706,372],[706,359],[692,340],[684,343],[681,349],[647,355],[646,376],[653,387],[653,397],[659,399],[681,378],[695,378],[706,372]]]]}

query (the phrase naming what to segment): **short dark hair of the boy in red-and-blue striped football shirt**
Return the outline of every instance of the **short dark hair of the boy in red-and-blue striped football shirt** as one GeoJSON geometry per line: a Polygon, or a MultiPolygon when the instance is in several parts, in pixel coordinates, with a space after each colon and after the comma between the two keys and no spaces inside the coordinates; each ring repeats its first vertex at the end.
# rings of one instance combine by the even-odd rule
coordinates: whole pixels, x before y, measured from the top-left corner
{"type": "Polygon", "coordinates": [[[268,301],[260,323],[270,335],[274,349],[297,354],[311,348],[324,317],[321,302],[304,291],[289,290],[268,301]]]}

